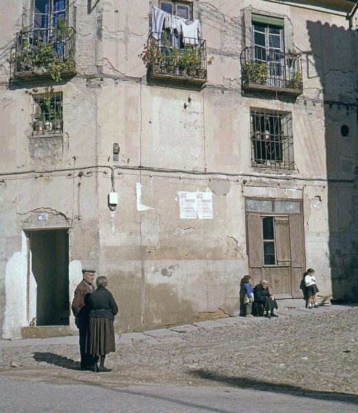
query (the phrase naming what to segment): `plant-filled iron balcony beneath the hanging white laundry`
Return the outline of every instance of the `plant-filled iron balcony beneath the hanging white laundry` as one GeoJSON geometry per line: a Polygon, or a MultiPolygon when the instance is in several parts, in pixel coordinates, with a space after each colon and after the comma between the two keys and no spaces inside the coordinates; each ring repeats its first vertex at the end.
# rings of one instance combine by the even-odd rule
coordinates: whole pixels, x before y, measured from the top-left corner
{"type": "Polygon", "coordinates": [[[208,80],[206,42],[186,38],[186,43],[181,36],[150,34],[141,54],[148,78],[203,85],[208,80]]]}

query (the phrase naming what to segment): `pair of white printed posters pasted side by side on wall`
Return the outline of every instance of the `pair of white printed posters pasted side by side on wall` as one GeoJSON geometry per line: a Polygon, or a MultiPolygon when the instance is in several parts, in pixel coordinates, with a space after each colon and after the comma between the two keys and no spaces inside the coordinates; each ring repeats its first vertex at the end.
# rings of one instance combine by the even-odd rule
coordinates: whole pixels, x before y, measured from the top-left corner
{"type": "Polygon", "coordinates": [[[212,220],[212,192],[179,192],[182,220],[212,220]]]}

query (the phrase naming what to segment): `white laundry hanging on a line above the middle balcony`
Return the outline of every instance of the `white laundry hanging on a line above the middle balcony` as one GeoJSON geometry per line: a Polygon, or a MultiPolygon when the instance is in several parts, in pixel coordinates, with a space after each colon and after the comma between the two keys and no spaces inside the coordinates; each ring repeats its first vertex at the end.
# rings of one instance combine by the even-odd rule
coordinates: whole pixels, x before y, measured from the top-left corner
{"type": "Polygon", "coordinates": [[[153,7],[152,10],[152,32],[153,37],[161,40],[161,30],[170,29],[170,34],[182,34],[183,43],[186,45],[198,45],[201,38],[201,25],[199,19],[186,20],[174,14],[164,12],[159,8],[153,7]]]}

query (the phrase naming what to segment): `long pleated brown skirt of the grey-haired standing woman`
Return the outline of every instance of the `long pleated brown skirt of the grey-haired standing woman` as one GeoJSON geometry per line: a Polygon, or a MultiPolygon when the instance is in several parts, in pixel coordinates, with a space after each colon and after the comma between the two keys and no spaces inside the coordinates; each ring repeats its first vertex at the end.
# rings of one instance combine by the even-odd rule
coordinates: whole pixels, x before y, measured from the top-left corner
{"type": "Polygon", "coordinates": [[[113,321],[104,317],[89,317],[86,342],[87,353],[103,356],[115,352],[113,321]]]}

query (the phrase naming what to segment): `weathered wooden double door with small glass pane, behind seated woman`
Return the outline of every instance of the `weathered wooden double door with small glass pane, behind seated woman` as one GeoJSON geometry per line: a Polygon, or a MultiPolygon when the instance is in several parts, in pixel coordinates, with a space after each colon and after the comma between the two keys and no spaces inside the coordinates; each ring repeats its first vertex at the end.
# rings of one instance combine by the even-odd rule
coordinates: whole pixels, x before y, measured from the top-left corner
{"type": "Polygon", "coordinates": [[[247,212],[249,275],[265,278],[278,298],[302,297],[304,233],[301,213],[247,212]]]}

